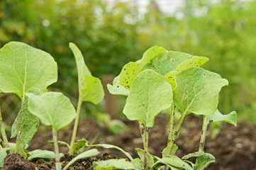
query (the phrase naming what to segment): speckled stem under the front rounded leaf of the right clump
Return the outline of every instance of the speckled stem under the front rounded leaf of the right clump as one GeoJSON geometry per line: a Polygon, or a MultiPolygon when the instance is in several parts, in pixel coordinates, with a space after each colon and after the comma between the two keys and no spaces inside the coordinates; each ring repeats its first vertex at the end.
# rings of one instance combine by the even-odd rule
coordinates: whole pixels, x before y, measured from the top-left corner
{"type": "Polygon", "coordinates": [[[144,147],[144,170],[148,170],[148,127],[139,121],[140,134],[143,138],[144,147]]]}

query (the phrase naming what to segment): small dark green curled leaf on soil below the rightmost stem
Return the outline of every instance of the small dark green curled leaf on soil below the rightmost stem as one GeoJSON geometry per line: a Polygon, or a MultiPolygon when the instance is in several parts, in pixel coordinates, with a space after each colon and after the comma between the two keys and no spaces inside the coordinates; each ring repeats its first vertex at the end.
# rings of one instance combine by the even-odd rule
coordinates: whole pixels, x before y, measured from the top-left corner
{"type": "Polygon", "coordinates": [[[196,158],[195,170],[204,170],[209,164],[215,162],[212,154],[204,153],[201,157],[196,158]]]}

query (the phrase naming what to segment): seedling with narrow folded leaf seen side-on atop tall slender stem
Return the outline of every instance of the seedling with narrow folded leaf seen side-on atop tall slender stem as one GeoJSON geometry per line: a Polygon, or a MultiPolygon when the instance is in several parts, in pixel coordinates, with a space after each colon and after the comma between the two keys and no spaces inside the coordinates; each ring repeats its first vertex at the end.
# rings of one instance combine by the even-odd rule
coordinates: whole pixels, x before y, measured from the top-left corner
{"type": "Polygon", "coordinates": [[[91,101],[94,104],[98,104],[104,98],[104,89],[101,81],[91,76],[87,65],[84,63],[84,57],[81,51],[74,43],[70,42],[69,47],[74,53],[74,58],[77,63],[78,73],[78,86],[79,86],[79,98],[77,104],[77,117],[74,122],[74,130],[72,133],[72,140],[70,142],[69,154],[74,153],[74,141],[77,135],[77,126],[79,122],[79,114],[83,101],[91,101]]]}

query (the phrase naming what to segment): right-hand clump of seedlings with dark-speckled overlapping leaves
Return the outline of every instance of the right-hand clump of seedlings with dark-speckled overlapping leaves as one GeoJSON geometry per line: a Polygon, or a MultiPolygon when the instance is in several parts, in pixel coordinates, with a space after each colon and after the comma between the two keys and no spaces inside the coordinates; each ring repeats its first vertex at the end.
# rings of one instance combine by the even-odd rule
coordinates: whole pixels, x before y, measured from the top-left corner
{"type": "Polygon", "coordinates": [[[235,125],[236,113],[222,115],[216,111],[218,93],[222,86],[228,85],[228,81],[216,73],[199,68],[207,61],[206,57],[152,47],[145,52],[142,60],[126,64],[121,74],[114,79],[113,86],[108,84],[111,94],[128,96],[123,109],[127,118],[139,120],[144,150],[136,149],[140,159],[133,159],[131,162],[136,169],[204,169],[215,161],[211,154],[204,153],[207,125],[217,120],[235,125]],[[153,126],[155,115],[170,106],[167,147],[162,152],[163,158],[158,158],[148,153],[148,128],[153,126]],[[182,115],[174,128],[177,109],[182,115]],[[180,159],[174,156],[178,149],[175,140],[189,113],[204,117],[201,142],[199,152],[180,159]],[[196,157],[196,164],[187,160],[190,157],[196,157]]]}

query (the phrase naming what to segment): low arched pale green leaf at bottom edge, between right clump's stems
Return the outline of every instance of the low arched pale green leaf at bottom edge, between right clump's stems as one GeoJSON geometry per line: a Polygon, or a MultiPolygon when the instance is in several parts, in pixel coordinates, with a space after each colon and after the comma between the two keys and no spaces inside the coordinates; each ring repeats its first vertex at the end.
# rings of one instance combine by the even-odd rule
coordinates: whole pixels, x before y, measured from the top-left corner
{"type": "Polygon", "coordinates": [[[182,159],[179,159],[179,157],[174,155],[169,155],[169,157],[159,159],[151,169],[156,169],[157,167],[162,166],[162,164],[167,164],[179,169],[193,170],[189,164],[183,162],[182,159]]]}

